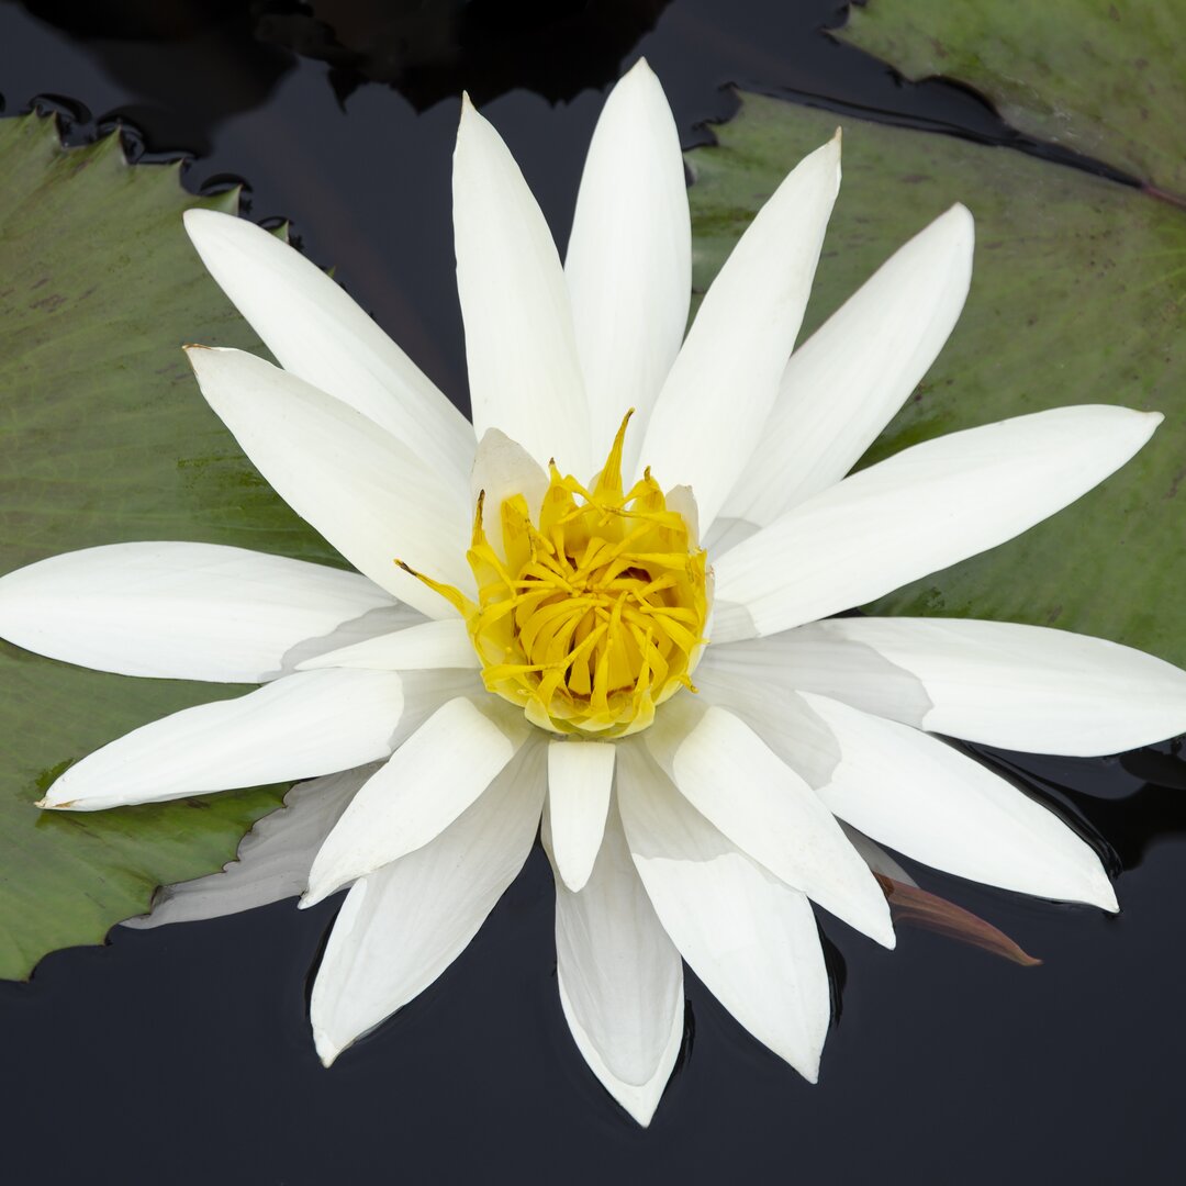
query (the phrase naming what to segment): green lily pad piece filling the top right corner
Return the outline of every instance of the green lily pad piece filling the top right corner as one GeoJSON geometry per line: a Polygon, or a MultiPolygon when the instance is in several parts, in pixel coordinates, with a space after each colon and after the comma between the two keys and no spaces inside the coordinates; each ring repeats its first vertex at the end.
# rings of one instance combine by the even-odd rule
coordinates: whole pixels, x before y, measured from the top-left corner
{"type": "Polygon", "coordinates": [[[1019,130],[1186,198],[1177,0],[869,0],[836,36],[906,78],[968,83],[1019,130]]]}

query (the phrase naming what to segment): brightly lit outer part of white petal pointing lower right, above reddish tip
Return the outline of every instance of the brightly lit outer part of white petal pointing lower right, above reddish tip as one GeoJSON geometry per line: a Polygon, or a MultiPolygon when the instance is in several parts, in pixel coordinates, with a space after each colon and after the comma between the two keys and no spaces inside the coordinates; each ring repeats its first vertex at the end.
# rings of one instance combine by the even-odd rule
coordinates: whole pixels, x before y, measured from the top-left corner
{"type": "Polygon", "coordinates": [[[841,763],[817,793],[891,848],[973,881],[1115,911],[1099,857],[1058,816],[951,746],[811,693],[841,763]]]}

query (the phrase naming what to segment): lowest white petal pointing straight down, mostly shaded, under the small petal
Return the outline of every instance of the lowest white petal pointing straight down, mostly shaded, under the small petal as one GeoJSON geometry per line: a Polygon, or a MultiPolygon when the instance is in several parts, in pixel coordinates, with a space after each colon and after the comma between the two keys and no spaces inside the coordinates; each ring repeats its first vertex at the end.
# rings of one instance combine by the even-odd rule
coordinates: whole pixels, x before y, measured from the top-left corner
{"type": "Polygon", "coordinates": [[[555,868],[550,808],[544,818],[544,847],[556,872],[556,978],[565,1018],[593,1073],[646,1126],[683,1035],[680,952],[638,880],[617,808],[610,809],[605,843],[579,893],[555,868]]]}

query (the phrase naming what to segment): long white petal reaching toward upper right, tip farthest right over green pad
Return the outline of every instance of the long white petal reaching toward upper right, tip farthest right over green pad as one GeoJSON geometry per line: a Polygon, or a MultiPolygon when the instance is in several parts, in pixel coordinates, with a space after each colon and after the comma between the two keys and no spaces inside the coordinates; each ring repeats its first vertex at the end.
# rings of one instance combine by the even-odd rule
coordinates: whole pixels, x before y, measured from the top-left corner
{"type": "MultiPolygon", "coordinates": [[[[758,635],[861,605],[1061,510],[1118,470],[1161,420],[1103,404],[1053,408],[903,449],[721,556],[716,600],[744,606],[758,635]]],[[[721,616],[713,640],[737,630],[721,616]]]]}

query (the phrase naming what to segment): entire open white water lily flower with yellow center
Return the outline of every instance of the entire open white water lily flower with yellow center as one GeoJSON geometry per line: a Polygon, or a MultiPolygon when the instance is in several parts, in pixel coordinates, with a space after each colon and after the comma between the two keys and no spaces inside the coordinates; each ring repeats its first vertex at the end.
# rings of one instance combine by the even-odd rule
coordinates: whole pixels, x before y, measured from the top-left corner
{"type": "Polygon", "coordinates": [[[191,347],[202,391],[357,572],[94,548],[0,580],[0,633],[109,671],[263,684],[113,741],[43,805],[313,779],[234,884],[176,887],[157,920],[352,886],[312,997],[326,1064],[465,948],[541,814],[563,1013],[643,1124],[682,1040],[681,957],[816,1078],[829,989],[810,901],[894,943],[849,836],[874,865],[866,837],[1116,910],[1075,831],[933,734],[1127,750],[1186,728],[1186,675],[1056,630],[829,616],[1054,514],[1161,417],[1059,408],[846,478],[959,314],[973,222],[936,219],[792,355],[839,183],[837,136],[754,218],[684,339],[683,161],[645,63],[605,106],[563,267],[466,103],[472,426],[313,264],[250,223],[187,215],[281,364],[191,347]]]}

